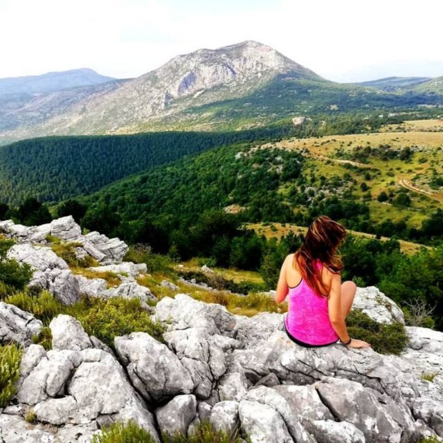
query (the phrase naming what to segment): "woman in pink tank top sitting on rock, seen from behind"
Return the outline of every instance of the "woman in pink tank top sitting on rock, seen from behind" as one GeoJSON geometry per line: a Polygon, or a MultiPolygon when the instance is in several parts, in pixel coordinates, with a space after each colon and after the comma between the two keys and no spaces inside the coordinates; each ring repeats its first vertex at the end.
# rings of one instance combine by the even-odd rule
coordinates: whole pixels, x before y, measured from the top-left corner
{"type": "Polygon", "coordinates": [[[281,303],[289,294],[284,327],[298,345],[319,347],[339,340],[349,347],[370,346],[347,334],[345,318],[356,284],[341,282],[343,264],[336,250],[345,236],[341,224],[322,215],[309,226],[298,251],[282,264],[275,301],[281,303]]]}

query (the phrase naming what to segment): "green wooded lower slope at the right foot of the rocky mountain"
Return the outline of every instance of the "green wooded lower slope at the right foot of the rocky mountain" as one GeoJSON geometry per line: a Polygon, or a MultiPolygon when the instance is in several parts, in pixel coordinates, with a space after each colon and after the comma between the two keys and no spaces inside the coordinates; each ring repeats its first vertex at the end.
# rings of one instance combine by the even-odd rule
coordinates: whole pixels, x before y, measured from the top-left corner
{"type": "Polygon", "coordinates": [[[308,80],[280,75],[248,96],[187,106],[178,114],[156,118],[118,132],[140,130],[229,130],[261,127],[298,115],[323,116],[371,111],[419,110],[419,105],[443,105],[441,96],[426,91],[391,93],[372,87],[308,80]]]}

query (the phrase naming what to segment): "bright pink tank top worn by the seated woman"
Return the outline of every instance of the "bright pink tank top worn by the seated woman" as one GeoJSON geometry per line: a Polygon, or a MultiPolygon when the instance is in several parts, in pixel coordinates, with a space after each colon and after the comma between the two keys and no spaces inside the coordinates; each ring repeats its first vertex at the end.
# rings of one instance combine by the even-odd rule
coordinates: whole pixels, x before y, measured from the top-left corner
{"type": "MultiPolygon", "coordinates": [[[[322,263],[317,261],[317,268],[322,263]]],[[[288,312],[284,317],[286,329],[298,341],[310,345],[327,345],[338,341],[329,320],[327,297],[318,296],[302,278],[289,288],[288,312]]]]}

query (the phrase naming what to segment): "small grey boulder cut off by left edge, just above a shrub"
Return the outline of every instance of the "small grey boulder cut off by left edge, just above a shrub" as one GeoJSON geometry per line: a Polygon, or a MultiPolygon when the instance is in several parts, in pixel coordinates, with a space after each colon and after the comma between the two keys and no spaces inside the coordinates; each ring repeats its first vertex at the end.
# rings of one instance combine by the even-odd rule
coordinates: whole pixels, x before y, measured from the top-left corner
{"type": "Polygon", "coordinates": [[[42,322],[14,305],[0,302],[0,343],[11,341],[28,346],[33,335],[42,330],[42,322]]]}

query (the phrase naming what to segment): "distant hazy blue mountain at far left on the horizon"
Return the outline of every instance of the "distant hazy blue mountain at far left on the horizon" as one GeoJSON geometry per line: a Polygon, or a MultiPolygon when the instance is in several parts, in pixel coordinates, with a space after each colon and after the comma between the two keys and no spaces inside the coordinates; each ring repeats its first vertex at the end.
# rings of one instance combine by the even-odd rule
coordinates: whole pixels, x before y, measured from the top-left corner
{"type": "Polygon", "coordinates": [[[90,84],[100,84],[115,80],[92,69],[72,69],[71,71],[49,72],[26,77],[0,78],[0,96],[19,94],[41,94],[90,84]]]}

